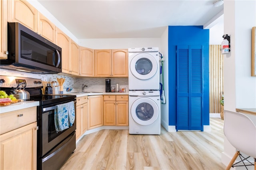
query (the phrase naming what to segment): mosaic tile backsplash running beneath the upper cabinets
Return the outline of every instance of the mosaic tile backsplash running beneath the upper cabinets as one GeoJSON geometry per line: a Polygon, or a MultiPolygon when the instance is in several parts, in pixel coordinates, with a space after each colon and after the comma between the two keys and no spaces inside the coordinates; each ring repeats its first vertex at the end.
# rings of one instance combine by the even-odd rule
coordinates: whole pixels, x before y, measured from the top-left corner
{"type": "MultiPolygon", "coordinates": [[[[16,76],[16,77],[30,77],[41,79],[42,81],[57,81],[57,78],[65,78],[65,82],[63,84],[64,89],[70,87],[74,92],[81,91],[82,84],[88,85],[85,87],[84,91],[105,91],[105,79],[111,79],[111,86],[115,86],[116,83],[119,83],[120,87],[128,88],[128,77],[70,77],[66,74],[32,74],[25,73],[21,71],[12,71],[7,69],[0,69],[0,75],[7,76],[16,76]]],[[[65,91],[65,90],[64,90],[65,91]]],[[[72,92],[71,91],[71,92],[72,92]]]]}

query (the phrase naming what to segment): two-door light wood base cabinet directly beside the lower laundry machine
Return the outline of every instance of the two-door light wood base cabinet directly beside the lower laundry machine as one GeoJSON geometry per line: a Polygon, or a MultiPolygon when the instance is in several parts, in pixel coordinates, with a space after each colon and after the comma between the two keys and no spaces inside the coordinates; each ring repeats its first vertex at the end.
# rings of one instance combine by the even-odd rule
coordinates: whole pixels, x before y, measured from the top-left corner
{"type": "Polygon", "coordinates": [[[128,95],[104,95],[104,125],[128,126],[128,95]]]}

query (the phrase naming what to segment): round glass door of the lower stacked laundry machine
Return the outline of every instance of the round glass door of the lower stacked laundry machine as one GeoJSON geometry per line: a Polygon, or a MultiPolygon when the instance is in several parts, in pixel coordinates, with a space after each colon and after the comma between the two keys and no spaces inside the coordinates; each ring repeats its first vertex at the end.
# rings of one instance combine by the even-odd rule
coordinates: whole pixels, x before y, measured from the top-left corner
{"type": "Polygon", "coordinates": [[[132,119],[140,125],[151,125],[159,115],[159,109],[156,103],[146,97],[134,101],[130,112],[132,119]]]}

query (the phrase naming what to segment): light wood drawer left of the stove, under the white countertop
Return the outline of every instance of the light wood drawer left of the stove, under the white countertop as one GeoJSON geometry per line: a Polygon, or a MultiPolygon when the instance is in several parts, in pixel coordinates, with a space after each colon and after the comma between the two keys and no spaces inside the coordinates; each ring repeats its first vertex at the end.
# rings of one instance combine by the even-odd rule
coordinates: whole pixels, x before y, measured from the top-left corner
{"type": "Polygon", "coordinates": [[[36,122],[36,107],[0,114],[0,134],[36,122]]]}

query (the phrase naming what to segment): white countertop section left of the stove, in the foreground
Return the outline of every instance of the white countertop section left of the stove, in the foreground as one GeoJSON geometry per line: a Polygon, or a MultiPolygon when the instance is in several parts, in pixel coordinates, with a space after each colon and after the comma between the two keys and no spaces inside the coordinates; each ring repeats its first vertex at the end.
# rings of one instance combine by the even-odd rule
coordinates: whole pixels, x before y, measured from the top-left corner
{"type": "Polygon", "coordinates": [[[20,110],[20,109],[26,109],[29,107],[35,107],[35,106],[39,106],[39,101],[22,101],[19,103],[8,105],[8,106],[1,106],[0,114],[6,113],[6,112],[11,112],[11,111],[16,111],[16,110],[20,110]]]}

